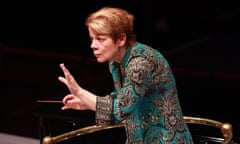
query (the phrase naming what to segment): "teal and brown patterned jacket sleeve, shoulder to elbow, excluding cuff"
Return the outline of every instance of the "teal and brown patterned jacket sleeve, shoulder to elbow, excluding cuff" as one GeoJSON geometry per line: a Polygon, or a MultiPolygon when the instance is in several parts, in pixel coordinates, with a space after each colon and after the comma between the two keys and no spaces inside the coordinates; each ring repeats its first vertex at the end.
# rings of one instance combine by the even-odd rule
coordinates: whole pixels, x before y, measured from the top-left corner
{"type": "Polygon", "coordinates": [[[117,121],[125,120],[138,109],[142,99],[154,89],[152,80],[152,64],[143,57],[134,57],[126,68],[126,80],[114,99],[113,111],[117,121]]]}

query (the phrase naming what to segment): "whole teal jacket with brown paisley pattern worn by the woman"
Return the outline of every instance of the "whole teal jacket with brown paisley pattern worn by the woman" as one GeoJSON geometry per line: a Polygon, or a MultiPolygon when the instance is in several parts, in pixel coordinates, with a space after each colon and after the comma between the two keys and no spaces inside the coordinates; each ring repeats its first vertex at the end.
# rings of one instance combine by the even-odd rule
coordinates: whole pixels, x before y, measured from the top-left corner
{"type": "Polygon", "coordinates": [[[174,75],[159,51],[137,43],[127,49],[120,64],[109,62],[109,69],[115,91],[97,97],[98,125],[124,121],[126,144],[193,143],[174,75]]]}

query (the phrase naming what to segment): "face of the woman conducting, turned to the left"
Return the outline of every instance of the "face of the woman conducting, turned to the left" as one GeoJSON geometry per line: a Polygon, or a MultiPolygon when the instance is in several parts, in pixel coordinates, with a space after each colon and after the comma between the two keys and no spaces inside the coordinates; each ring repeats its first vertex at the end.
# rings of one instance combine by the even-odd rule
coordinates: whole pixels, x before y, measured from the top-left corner
{"type": "Polygon", "coordinates": [[[88,29],[91,39],[91,48],[98,62],[103,63],[106,61],[121,61],[120,40],[114,42],[110,35],[98,34],[92,29],[88,29]]]}

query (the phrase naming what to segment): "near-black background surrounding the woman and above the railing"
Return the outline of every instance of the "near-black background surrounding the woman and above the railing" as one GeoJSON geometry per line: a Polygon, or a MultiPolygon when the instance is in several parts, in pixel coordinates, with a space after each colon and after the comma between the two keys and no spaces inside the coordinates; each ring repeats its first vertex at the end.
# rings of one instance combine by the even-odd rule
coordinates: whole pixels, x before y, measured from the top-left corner
{"type": "Polygon", "coordinates": [[[61,104],[36,101],[68,93],[57,80],[61,62],[84,88],[111,92],[108,69],[96,63],[84,26],[102,6],[135,15],[138,41],[159,49],[172,66],[185,115],[230,122],[239,137],[240,9],[231,1],[1,2],[2,132],[39,138],[43,131],[75,129],[74,120],[79,127],[94,123],[92,112],[62,112],[61,104]]]}

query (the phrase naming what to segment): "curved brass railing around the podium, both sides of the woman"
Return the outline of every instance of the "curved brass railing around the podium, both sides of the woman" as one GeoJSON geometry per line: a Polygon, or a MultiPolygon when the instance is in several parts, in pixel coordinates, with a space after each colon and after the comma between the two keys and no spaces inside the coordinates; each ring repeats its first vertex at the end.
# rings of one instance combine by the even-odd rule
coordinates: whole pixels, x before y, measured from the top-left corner
{"type": "MultiPolygon", "coordinates": [[[[192,124],[208,125],[208,126],[219,128],[221,129],[221,132],[223,134],[222,143],[223,144],[232,143],[233,133],[232,133],[232,125],[230,123],[222,123],[212,119],[201,118],[201,117],[190,117],[190,116],[184,116],[184,120],[189,124],[192,123],[192,124]]],[[[85,135],[85,134],[89,134],[89,133],[93,133],[101,130],[119,128],[119,127],[124,127],[124,123],[111,125],[111,126],[97,126],[97,125],[87,126],[87,127],[69,131],[54,137],[45,136],[43,138],[43,144],[56,144],[61,141],[65,141],[77,136],[81,136],[81,135],[85,135]]]]}

